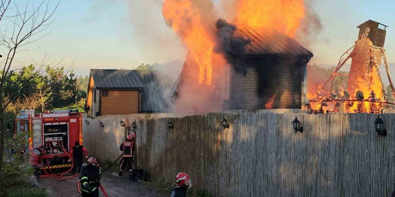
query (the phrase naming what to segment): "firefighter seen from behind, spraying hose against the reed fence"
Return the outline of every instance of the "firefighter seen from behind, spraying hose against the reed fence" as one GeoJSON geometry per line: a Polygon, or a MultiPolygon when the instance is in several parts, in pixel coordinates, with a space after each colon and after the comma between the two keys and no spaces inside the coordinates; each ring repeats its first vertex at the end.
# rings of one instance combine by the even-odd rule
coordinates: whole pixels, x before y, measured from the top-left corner
{"type": "Polygon", "coordinates": [[[128,164],[129,168],[133,169],[134,164],[134,138],[135,134],[133,133],[131,136],[126,137],[126,141],[122,142],[119,149],[122,151],[122,160],[119,167],[118,176],[122,176],[123,170],[125,169],[125,165],[128,164]]]}

